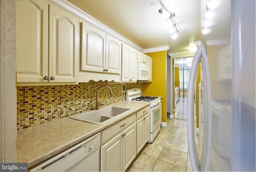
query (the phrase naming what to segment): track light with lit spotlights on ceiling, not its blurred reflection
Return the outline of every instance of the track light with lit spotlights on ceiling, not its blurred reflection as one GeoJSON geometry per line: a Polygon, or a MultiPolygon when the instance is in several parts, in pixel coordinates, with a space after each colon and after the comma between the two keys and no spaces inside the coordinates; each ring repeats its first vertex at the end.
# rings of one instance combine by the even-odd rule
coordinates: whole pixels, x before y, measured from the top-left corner
{"type": "Polygon", "coordinates": [[[175,13],[169,12],[162,2],[160,2],[160,4],[162,5],[162,8],[160,8],[158,12],[161,14],[162,18],[166,20],[166,26],[170,28],[168,32],[172,34],[171,38],[175,40],[179,32],[176,23],[172,20],[172,18],[175,17],[175,13]]]}

